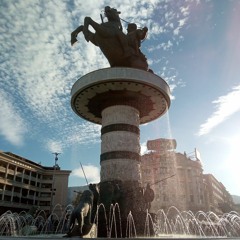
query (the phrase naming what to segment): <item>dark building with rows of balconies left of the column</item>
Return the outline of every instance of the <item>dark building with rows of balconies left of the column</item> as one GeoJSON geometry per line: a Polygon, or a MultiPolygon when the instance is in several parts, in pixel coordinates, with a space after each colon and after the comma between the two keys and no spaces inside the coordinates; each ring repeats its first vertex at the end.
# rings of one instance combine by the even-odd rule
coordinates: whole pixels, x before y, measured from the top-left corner
{"type": "Polygon", "coordinates": [[[51,211],[67,204],[71,171],[45,167],[10,152],[0,152],[0,214],[33,207],[51,211]]]}

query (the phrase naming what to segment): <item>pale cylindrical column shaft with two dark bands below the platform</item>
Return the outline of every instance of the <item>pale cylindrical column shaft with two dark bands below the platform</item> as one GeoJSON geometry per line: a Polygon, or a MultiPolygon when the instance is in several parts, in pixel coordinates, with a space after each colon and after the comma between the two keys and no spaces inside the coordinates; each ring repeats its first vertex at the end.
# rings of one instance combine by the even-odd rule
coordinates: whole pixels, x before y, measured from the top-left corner
{"type": "Polygon", "coordinates": [[[101,182],[141,181],[139,111],[114,105],[102,111],[101,182]]]}

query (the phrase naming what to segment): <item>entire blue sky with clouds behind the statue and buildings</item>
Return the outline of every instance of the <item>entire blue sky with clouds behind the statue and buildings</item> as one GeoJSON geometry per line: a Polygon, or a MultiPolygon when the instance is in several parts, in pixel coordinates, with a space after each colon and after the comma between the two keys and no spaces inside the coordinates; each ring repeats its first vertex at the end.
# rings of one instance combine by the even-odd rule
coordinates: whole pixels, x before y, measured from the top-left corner
{"type": "Polygon", "coordinates": [[[81,34],[71,47],[70,34],[85,16],[100,23],[107,5],[149,28],[142,52],[172,91],[168,114],[141,126],[142,152],[147,140],[175,138],[176,151],[197,148],[204,173],[240,195],[238,0],[1,0],[0,150],[46,166],[61,152],[70,186],[85,184],[80,162],[99,181],[100,126],[73,113],[70,91],[109,65],[81,34]]]}

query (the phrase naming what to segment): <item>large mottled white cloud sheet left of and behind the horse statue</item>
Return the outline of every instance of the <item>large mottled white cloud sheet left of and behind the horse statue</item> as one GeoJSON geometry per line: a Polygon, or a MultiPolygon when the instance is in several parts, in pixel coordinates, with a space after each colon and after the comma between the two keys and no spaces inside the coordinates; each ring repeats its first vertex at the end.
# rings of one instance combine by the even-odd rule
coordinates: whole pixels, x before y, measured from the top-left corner
{"type": "MultiPolygon", "coordinates": [[[[70,91],[80,76],[109,64],[82,34],[78,44],[71,47],[70,34],[83,24],[85,16],[100,23],[99,12],[106,5],[113,6],[112,1],[89,0],[77,5],[68,0],[9,0],[0,5],[0,88],[4,103],[0,111],[8,113],[1,114],[0,134],[15,145],[37,138],[49,151],[99,141],[100,126],[81,121],[72,112],[70,91]],[[12,93],[11,102],[7,96],[12,93]]],[[[182,28],[188,15],[188,7],[174,14],[171,6],[165,6],[170,6],[168,1],[124,0],[115,1],[113,7],[121,11],[123,19],[139,27],[147,25],[148,40],[158,40],[159,34],[173,33],[174,26],[182,28]],[[161,24],[156,20],[159,9],[166,13],[161,24]]],[[[157,48],[169,51],[179,41],[178,34],[157,48]]],[[[153,65],[156,59],[159,56],[153,59],[153,65]]],[[[171,76],[171,86],[178,86],[174,84],[176,75],[171,76]]]]}

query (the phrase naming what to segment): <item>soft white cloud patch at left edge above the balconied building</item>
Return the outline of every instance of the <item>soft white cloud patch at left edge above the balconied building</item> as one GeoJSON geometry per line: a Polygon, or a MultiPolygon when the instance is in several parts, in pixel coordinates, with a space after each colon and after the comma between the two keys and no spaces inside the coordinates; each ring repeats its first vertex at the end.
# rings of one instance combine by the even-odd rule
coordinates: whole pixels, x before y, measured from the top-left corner
{"type": "Polygon", "coordinates": [[[0,90],[0,135],[13,145],[24,143],[26,126],[23,118],[14,107],[9,95],[0,90]]]}

